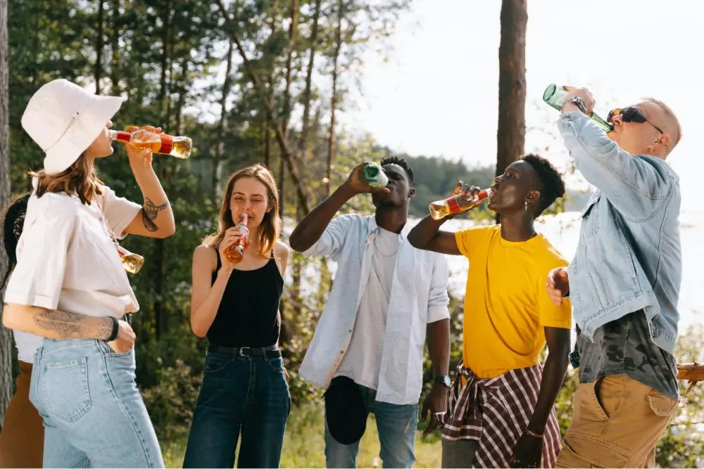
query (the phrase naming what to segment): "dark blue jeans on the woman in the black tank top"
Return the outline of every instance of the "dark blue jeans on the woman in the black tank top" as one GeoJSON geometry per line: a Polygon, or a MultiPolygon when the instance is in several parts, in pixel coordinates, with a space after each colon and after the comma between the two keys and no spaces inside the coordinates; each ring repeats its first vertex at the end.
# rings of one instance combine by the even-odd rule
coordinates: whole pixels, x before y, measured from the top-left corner
{"type": "Polygon", "coordinates": [[[277,468],[291,409],[282,359],[208,353],[184,468],[277,468]]]}

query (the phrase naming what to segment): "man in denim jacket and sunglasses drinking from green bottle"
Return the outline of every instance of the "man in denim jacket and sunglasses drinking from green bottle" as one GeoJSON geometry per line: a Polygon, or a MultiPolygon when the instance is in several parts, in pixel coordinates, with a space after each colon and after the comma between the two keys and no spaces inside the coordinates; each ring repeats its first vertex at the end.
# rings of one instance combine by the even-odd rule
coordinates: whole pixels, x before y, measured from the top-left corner
{"type": "Polygon", "coordinates": [[[680,139],[672,110],[648,98],[612,110],[604,134],[586,89],[567,95],[559,127],[597,191],[582,212],[570,266],[548,292],[570,295],[579,387],[558,467],[648,467],[677,411],[677,301],[682,263],[679,179],[667,156],[680,139]]]}

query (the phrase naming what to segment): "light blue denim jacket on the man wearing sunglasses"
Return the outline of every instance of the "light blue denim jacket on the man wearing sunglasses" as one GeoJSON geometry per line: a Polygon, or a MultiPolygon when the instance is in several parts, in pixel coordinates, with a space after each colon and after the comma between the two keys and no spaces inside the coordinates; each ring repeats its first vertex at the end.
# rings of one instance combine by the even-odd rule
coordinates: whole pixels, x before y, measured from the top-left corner
{"type": "Polygon", "coordinates": [[[583,113],[558,124],[582,175],[596,186],[567,270],[574,321],[586,337],[643,309],[650,335],[672,354],[682,277],[679,178],[659,158],[621,150],[583,113]]]}

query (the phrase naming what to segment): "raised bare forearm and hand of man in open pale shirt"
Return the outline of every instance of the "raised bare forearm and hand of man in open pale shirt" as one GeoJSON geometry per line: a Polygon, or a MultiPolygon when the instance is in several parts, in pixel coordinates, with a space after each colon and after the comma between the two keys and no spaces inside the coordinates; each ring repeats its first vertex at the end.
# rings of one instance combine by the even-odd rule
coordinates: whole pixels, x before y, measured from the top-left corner
{"type": "Polygon", "coordinates": [[[360,174],[367,163],[362,163],[352,170],[347,181],[339,186],[332,195],[323,200],[306,217],[298,223],[289,236],[291,249],[303,252],[313,246],[325,233],[325,229],[345,203],[360,193],[387,193],[389,189],[371,187],[360,180],[360,174]]]}

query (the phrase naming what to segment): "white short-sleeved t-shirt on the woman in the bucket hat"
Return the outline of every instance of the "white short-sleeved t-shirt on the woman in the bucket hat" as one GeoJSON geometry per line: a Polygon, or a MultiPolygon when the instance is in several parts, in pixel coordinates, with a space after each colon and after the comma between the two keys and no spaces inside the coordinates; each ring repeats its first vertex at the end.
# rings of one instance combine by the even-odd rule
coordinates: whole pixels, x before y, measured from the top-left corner
{"type": "MultiPolygon", "coordinates": [[[[142,207],[102,189],[92,205],[65,193],[32,194],[6,303],[118,318],[139,309],[109,232],[124,237],[142,207]]],[[[13,334],[18,359],[34,363],[44,339],[20,330],[13,334]]]]}

